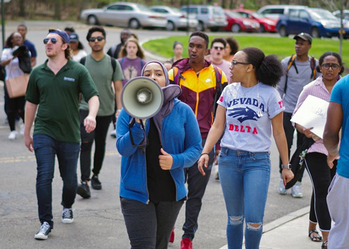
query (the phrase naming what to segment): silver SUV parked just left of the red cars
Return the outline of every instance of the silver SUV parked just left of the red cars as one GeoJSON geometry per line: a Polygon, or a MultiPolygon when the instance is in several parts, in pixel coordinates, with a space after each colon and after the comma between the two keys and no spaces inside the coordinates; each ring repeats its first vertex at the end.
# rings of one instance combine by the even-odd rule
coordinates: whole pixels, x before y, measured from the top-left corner
{"type": "MultiPolygon", "coordinates": [[[[181,11],[187,12],[188,7],[182,6],[181,11]]],[[[213,5],[189,5],[189,14],[195,14],[199,21],[198,30],[218,31],[228,25],[223,9],[213,5]]]]}

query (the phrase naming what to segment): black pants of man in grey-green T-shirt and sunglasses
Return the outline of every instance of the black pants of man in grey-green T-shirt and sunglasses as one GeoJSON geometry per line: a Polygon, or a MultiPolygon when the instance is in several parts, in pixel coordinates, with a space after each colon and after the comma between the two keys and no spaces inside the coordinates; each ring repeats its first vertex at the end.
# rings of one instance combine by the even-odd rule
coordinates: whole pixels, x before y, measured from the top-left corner
{"type": "Polygon", "coordinates": [[[95,140],[95,158],[92,172],[98,175],[103,164],[107,133],[111,123],[111,116],[97,116],[96,128],[93,132],[87,133],[83,125],[84,119],[88,116],[87,110],[80,110],[80,132],[81,132],[81,151],[80,151],[80,169],[81,180],[89,181],[91,174],[91,150],[95,140]]]}

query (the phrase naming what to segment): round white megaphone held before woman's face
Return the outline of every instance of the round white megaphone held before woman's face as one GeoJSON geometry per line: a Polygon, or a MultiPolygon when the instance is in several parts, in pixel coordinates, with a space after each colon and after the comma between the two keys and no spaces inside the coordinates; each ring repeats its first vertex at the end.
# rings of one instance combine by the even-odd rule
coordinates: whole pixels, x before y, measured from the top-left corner
{"type": "Polygon", "coordinates": [[[121,103],[132,117],[154,117],[163,104],[163,92],[157,82],[148,77],[130,79],[121,92],[121,103]]]}

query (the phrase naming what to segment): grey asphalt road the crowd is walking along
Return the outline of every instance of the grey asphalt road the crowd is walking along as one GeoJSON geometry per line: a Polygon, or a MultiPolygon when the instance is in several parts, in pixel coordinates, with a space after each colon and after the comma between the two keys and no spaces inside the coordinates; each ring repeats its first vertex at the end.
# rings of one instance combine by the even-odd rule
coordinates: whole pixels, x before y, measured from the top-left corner
{"type": "MultiPolygon", "coordinates": [[[[28,22],[28,39],[34,42],[38,49],[38,63],[46,57],[42,40],[48,27],[63,29],[67,23],[63,22],[28,22]]],[[[9,23],[6,33],[16,29],[17,23],[9,23]]],[[[80,39],[87,45],[84,37],[88,27],[80,25],[77,31],[80,39]]],[[[120,30],[107,28],[109,45],[119,42],[120,30]]],[[[185,32],[167,32],[157,30],[137,30],[141,40],[166,36],[171,34],[185,34],[185,32]]],[[[87,51],[90,51],[86,47],[87,51]]],[[[60,205],[62,195],[62,180],[58,166],[53,180],[53,214],[55,227],[47,241],[36,241],[33,235],[39,228],[37,218],[37,204],[35,194],[36,163],[33,153],[25,146],[23,137],[15,141],[8,141],[9,128],[4,124],[3,88],[0,87],[0,248],[28,249],[28,248],[106,248],[127,249],[128,238],[120,210],[119,181],[120,156],[115,148],[115,139],[108,137],[107,155],[100,179],[103,190],[92,190],[92,198],[76,199],[75,221],[71,225],[62,224],[60,205]]],[[[272,173],[270,189],[265,213],[265,223],[278,219],[288,213],[309,205],[311,183],[307,174],[303,180],[304,198],[293,199],[290,195],[280,196],[276,192],[278,185],[278,154],[273,143],[271,147],[272,173]]],[[[56,163],[58,165],[58,163],[56,163]]],[[[79,170],[78,170],[79,172],[79,170]]],[[[80,174],[79,174],[80,176],[80,174]]],[[[170,249],[179,249],[181,226],[184,221],[184,207],[176,222],[176,239],[170,249]]],[[[195,249],[218,249],[226,244],[225,238],[226,212],[219,181],[211,177],[203,207],[199,217],[199,230],[194,239],[195,249]]],[[[306,236],[306,234],[304,234],[306,236]]]]}

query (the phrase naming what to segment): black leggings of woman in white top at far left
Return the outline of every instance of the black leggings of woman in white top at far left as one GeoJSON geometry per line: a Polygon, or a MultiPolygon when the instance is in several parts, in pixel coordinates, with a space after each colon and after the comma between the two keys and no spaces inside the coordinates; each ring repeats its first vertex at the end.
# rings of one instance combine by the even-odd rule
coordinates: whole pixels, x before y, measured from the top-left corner
{"type": "Polygon", "coordinates": [[[5,112],[9,121],[11,132],[16,130],[17,115],[22,118],[24,123],[24,105],[25,97],[10,98],[5,88],[5,112]]]}

